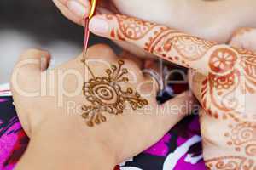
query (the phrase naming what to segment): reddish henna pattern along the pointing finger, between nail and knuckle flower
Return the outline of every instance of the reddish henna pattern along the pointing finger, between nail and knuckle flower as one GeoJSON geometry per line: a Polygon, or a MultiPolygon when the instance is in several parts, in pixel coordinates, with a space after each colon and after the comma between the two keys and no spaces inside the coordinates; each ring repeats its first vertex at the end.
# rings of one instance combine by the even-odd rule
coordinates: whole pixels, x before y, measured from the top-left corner
{"type": "Polygon", "coordinates": [[[189,36],[166,26],[158,26],[136,18],[107,14],[108,20],[117,20],[119,27],[113,29],[110,36],[122,41],[143,41],[144,49],[167,60],[176,59],[189,67],[188,61],[201,59],[213,42],[189,36]],[[148,37],[148,39],[145,39],[148,37]]]}

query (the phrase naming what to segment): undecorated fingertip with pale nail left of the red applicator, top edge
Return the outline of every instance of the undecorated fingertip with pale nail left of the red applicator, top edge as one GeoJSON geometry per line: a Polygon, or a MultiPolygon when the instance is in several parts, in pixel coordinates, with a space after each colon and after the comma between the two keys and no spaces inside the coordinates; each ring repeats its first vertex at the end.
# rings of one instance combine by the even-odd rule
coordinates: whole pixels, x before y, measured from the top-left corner
{"type": "Polygon", "coordinates": [[[67,19],[84,26],[84,18],[90,14],[90,2],[88,0],[53,0],[67,19]]]}

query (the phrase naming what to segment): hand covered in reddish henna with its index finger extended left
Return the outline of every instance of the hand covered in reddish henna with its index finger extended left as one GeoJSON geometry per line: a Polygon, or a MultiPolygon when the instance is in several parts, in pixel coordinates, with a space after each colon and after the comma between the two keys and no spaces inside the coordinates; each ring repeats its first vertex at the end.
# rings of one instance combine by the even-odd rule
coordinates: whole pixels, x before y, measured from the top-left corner
{"type": "Polygon", "coordinates": [[[91,29],[94,33],[131,42],[191,69],[190,87],[203,108],[201,133],[207,167],[233,166],[232,162],[243,167],[256,162],[256,54],[124,15],[95,16],[90,25],[99,20],[108,29],[91,29]]]}

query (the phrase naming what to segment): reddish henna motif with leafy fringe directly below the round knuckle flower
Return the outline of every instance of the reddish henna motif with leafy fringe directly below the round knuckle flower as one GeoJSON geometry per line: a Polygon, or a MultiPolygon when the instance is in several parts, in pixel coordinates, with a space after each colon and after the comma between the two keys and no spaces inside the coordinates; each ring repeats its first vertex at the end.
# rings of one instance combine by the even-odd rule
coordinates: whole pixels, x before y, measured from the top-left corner
{"type": "Polygon", "coordinates": [[[234,92],[239,82],[238,71],[232,71],[222,77],[209,73],[208,78],[202,82],[201,88],[201,103],[207,114],[226,119],[227,113],[236,111],[239,100],[234,96],[234,92]]]}

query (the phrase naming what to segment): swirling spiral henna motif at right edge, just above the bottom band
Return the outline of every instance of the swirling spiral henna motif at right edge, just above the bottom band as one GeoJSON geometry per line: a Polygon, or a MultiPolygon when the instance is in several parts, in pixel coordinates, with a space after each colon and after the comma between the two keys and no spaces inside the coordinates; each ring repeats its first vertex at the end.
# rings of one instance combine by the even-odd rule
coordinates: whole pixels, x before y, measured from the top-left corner
{"type": "Polygon", "coordinates": [[[256,156],[256,122],[242,122],[233,127],[230,125],[230,133],[224,133],[229,139],[228,145],[235,147],[237,152],[243,152],[247,156],[256,156]]]}

